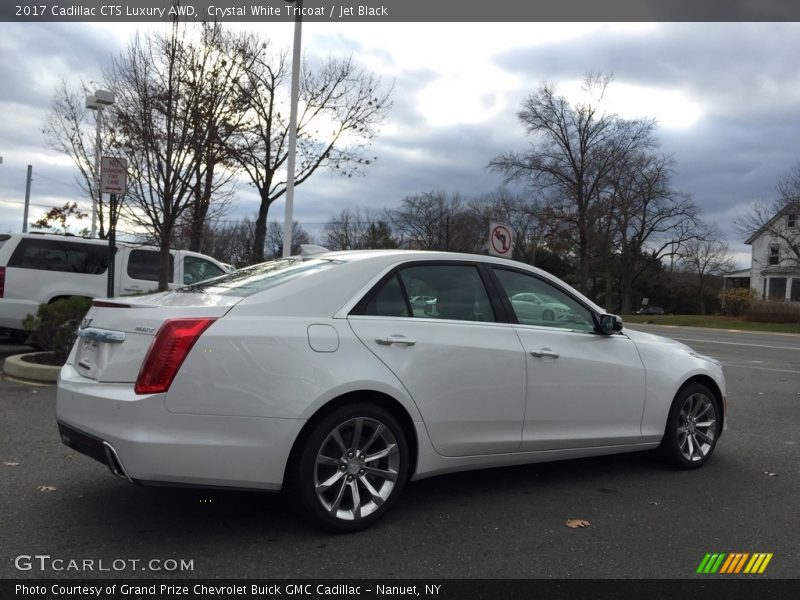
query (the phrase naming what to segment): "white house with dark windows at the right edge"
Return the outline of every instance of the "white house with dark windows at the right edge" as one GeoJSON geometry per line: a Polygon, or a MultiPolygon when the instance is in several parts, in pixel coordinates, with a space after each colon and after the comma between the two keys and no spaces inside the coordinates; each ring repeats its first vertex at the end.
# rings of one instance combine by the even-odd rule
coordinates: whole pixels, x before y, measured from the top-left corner
{"type": "MultiPolygon", "coordinates": [[[[790,205],[745,240],[752,246],[750,287],[765,300],[800,302],[800,214],[790,205]]],[[[731,273],[731,276],[737,274],[731,273]]]]}

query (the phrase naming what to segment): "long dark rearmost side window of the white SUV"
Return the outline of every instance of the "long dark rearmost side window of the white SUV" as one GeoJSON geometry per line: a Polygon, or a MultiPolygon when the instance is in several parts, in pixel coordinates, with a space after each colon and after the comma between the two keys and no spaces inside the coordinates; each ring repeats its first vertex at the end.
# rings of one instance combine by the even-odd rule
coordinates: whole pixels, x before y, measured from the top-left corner
{"type": "Polygon", "coordinates": [[[23,238],[9,267],[99,275],[108,268],[108,247],[99,244],[23,238]]]}

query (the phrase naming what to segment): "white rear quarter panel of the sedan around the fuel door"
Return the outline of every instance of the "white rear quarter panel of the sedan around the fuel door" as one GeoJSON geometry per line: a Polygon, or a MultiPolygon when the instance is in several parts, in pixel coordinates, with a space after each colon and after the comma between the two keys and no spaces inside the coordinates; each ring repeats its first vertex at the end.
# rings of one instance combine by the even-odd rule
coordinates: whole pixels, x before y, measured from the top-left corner
{"type": "Polygon", "coordinates": [[[242,315],[235,307],[203,334],[166,397],[170,412],[308,419],[330,400],[371,390],[421,417],[397,378],[355,337],[346,320],[242,315]],[[310,325],[333,328],[335,351],[309,343],[310,325]]]}

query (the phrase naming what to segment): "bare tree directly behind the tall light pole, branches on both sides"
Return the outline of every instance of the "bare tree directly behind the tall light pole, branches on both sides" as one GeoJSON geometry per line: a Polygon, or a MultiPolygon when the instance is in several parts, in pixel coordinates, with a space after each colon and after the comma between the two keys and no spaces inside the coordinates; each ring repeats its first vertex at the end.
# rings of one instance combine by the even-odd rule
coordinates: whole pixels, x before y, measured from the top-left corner
{"type": "MultiPolygon", "coordinates": [[[[261,198],[253,257],[260,262],[269,208],[286,191],[289,69],[286,53],[272,53],[257,36],[251,36],[241,52],[252,59],[244,84],[250,110],[233,148],[261,198]]],[[[351,177],[375,160],[364,153],[391,106],[391,90],[378,77],[352,58],[330,58],[318,65],[303,61],[299,91],[295,185],[318,169],[351,177]]]]}

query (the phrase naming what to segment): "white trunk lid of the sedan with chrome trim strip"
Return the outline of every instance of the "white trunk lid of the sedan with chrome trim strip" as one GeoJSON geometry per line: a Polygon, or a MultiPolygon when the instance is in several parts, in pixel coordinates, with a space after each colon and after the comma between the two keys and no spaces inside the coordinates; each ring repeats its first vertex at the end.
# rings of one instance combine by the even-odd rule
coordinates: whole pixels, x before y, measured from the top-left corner
{"type": "Polygon", "coordinates": [[[219,318],[241,300],[191,292],[97,299],[81,323],[67,363],[101,383],[134,383],[164,321],[219,318]]]}

